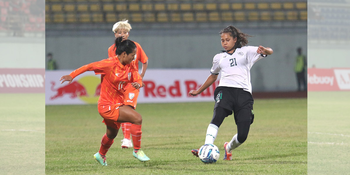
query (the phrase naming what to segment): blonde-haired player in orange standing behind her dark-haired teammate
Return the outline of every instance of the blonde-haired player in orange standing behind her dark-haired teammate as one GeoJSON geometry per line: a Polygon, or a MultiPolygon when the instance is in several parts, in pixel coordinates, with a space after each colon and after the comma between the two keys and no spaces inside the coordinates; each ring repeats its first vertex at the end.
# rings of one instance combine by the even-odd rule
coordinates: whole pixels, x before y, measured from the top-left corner
{"type": "MultiPolygon", "coordinates": [[[[112,31],[114,32],[115,37],[122,36],[123,40],[127,40],[130,34],[131,26],[128,23],[128,20],[123,20],[115,23],[113,25],[112,31]]],[[[142,70],[141,70],[141,78],[144,78],[145,72],[148,65],[148,57],[145,54],[144,50],[141,48],[141,45],[135,41],[133,41],[136,45],[137,51],[136,55],[132,61],[132,64],[135,64],[136,69],[139,70],[139,62],[142,63],[142,70]]],[[[108,57],[114,57],[116,56],[116,47],[111,45],[111,47],[108,48],[108,57]]],[[[142,85],[144,86],[144,85],[142,85]]],[[[126,106],[129,106],[132,109],[136,109],[137,104],[137,98],[139,96],[139,89],[135,89],[132,87],[132,85],[129,83],[125,85],[125,91],[124,91],[124,104],[126,106]]],[[[121,129],[124,133],[124,139],[121,140],[121,148],[132,148],[132,142],[130,138],[130,130],[131,130],[131,123],[122,123],[121,129]]]]}

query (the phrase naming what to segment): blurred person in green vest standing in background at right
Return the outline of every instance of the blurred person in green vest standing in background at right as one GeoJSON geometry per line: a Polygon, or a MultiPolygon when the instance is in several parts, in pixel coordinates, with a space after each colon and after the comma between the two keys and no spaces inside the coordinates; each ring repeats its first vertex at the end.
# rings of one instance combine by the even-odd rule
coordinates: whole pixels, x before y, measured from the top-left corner
{"type": "Polygon", "coordinates": [[[294,71],[296,73],[296,79],[298,83],[298,91],[301,91],[301,83],[303,84],[303,90],[306,91],[306,79],[305,79],[305,69],[306,69],[306,56],[301,54],[301,48],[296,49],[298,56],[296,56],[296,62],[294,66],[294,71]]]}

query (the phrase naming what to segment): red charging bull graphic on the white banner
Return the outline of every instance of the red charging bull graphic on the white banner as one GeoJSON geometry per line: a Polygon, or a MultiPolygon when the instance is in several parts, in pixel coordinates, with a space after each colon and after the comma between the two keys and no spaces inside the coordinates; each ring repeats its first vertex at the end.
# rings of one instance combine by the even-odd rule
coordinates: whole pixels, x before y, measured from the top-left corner
{"type": "Polygon", "coordinates": [[[56,91],[56,94],[54,96],[51,96],[50,100],[62,97],[64,94],[69,94],[70,98],[77,98],[78,96],[88,96],[85,87],[78,82],[72,82],[58,89],[54,89],[55,84],[55,82],[51,82],[51,90],[56,91]]]}

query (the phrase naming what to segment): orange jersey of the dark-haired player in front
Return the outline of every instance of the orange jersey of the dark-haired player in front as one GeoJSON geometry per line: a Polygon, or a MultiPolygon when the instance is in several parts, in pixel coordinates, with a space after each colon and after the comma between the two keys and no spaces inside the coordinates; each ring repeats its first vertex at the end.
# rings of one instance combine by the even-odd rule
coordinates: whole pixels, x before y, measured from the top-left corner
{"type": "Polygon", "coordinates": [[[109,111],[110,105],[124,103],[124,87],[128,83],[137,82],[142,85],[141,76],[134,64],[123,65],[118,57],[114,59],[103,59],[90,63],[76,69],[69,75],[72,78],[86,72],[94,71],[101,74],[100,98],[98,99],[98,112],[109,111]]]}

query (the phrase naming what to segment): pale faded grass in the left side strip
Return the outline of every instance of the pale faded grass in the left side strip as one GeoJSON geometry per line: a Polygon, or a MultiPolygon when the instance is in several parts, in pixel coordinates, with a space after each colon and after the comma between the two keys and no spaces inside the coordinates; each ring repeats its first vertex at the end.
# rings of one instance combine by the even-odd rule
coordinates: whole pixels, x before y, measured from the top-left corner
{"type": "Polygon", "coordinates": [[[45,94],[0,99],[0,174],[45,174],[45,94]]]}

